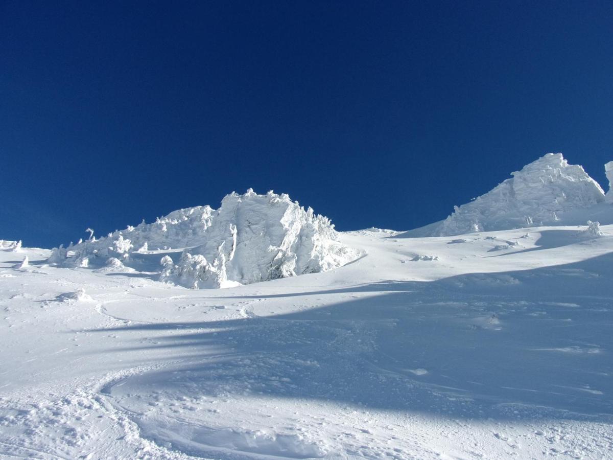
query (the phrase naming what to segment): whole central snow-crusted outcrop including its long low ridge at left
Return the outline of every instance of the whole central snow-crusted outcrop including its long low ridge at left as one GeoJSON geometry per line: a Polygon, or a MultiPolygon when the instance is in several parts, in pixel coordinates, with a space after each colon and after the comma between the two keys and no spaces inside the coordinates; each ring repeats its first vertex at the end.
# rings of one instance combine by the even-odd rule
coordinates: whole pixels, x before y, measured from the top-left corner
{"type": "Polygon", "coordinates": [[[216,211],[180,209],[155,223],[54,248],[48,261],[101,270],[128,267],[147,276],[159,272],[164,282],[197,289],[324,272],[359,255],[338,241],[328,218],[287,194],[249,189],[227,195],[216,211]]]}

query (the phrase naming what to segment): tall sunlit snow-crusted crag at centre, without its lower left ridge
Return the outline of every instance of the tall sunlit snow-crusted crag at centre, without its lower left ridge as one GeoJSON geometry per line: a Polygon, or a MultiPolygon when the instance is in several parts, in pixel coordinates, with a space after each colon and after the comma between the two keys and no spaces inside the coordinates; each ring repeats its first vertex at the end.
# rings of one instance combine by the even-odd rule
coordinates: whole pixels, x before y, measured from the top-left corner
{"type": "Polygon", "coordinates": [[[206,241],[162,259],[161,280],[189,288],[219,288],[325,272],[356,259],[338,241],[327,217],[305,210],[287,194],[249,189],[224,197],[206,241]]]}

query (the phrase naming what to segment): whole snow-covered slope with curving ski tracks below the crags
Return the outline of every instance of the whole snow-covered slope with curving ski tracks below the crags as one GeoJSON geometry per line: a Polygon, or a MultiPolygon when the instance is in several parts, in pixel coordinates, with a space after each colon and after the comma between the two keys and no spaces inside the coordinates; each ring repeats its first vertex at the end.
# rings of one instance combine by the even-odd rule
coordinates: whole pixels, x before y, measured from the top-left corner
{"type": "Polygon", "coordinates": [[[611,458],[613,226],[587,228],[347,232],[353,263],[206,290],[2,250],[0,458],[611,458]]]}

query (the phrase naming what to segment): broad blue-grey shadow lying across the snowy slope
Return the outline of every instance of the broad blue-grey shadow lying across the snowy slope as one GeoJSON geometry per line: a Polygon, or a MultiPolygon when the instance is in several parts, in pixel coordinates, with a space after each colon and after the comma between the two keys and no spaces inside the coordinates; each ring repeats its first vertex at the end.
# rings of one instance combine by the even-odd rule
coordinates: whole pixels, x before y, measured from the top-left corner
{"type": "MultiPolygon", "coordinates": [[[[562,239],[547,234],[542,246],[562,239]]],[[[143,345],[137,334],[124,350],[164,348],[169,361],[181,361],[131,377],[142,391],[310,398],[478,419],[516,418],[513,410],[524,407],[527,417],[610,420],[611,267],[613,253],[436,282],[253,296],[355,294],[284,315],[99,332],[146,332],[156,343],[143,345]]]]}

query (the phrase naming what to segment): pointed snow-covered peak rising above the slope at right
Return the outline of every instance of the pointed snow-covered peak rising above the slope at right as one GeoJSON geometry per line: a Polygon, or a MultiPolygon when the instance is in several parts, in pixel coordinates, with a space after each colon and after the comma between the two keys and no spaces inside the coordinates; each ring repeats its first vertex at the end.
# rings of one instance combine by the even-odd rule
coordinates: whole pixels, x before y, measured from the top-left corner
{"type": "MultiPolygon", "coordinates": [[[[606,165],[613,182],[613,162],[606,165]]],[[[562,153],[547,153],[488,193],[460,207],[445,220],[403,236],[452,236],[539,225],[613,223],[613,207],[602,206],[604,191],[581,166],[568,164],[562,153]]],[[[611,191],[609,191],[611,201],[611,191]]]]}

